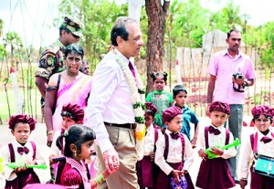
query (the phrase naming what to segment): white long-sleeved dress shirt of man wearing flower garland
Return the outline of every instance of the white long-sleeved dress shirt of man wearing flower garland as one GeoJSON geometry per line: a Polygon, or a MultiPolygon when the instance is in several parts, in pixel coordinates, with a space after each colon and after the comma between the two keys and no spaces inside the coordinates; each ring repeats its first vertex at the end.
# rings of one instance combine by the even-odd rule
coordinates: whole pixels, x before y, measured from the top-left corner
{"type": "Polygon", "coordinates": [[[97,66],[86,109],[88,126],[96,133],[100,151],[113,148],[104,121],[110,123],[134,123],[132,92],[117,57],[129,63],[117,49],[109,52],[97,66]]]}

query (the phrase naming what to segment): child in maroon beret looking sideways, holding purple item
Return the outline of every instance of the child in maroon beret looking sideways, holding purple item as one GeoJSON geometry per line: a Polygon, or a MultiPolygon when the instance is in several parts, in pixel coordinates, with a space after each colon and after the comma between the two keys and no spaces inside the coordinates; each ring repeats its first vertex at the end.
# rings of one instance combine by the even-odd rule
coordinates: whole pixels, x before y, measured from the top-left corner
{"type": "Polygon", "coordinates": [[[188,173],[194,161],[191,143],[181,133],[183,126],[182,110],[170,107],[163,111],[163,123],[166,131],[156,142],[155,163],[160,167],[156,188],[173,188],[172,178],[176,184],[186,180],[187,189],[194,189],[194,184],[188,173]]]}

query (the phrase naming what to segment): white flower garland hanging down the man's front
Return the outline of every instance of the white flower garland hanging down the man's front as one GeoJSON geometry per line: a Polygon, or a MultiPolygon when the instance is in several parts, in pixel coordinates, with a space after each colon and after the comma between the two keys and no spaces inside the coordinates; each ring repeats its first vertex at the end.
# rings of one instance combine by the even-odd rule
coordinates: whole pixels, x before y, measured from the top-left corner
{"type": "MultiPolygon", "coordinates": [[[[115,53],[116,54],[116,53],[115,53]]],[[[142,160],[143,157],[143,137],[145,135],[145,125],[143,114],[145,110],[144,104],[144,86],[142,84],[142,79],[140,74],[136,71],[135,78],[132,76],[132,71],[129,68],[128,62],[123,61],[119,55],[116,56],[116,61],[120,64],[121,70],[124,73],[125,78],[127,79],[131,92],[132,92],[132,103],[133,110],[135,115],[135,122],[137,123],[137,127],[135,130],[136,137],[136,150],[137,150],[137,160],[142,160]]],[[[137,70],[133,65],[134,70],[137,70]]]]}

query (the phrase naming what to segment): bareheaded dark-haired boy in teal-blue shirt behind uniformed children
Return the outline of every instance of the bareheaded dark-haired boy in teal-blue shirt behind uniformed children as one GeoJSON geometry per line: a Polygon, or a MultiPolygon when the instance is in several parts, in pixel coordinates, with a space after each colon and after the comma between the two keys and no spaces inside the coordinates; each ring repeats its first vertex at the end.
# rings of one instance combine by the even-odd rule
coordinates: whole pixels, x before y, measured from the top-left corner
{"type": "Polygon", "coordinates": [[[197,119],[195,112],[185,105],[187,99],[187,90],[184,88],[184,86],[176,85],[173,89],[173,93],[175,106],[183,110],[183,128],[181,132],[187,136],[188,140],[191,141],[192,147],[195,148],[198,138],[199,120],[197,119]],[[190,123],[195,125],[195,135],[193,140],[191,140],[190,137],[190,123]]]}

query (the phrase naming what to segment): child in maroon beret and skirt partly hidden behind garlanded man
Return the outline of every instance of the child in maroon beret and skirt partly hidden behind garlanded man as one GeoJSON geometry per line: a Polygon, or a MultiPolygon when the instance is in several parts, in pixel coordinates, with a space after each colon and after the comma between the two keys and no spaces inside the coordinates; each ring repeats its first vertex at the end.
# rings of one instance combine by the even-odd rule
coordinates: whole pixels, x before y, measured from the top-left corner
{"type": "Polygon", "coordinates": [[[148,189],[156,188],[156,179],[159,173],[159,167],[154,163],[156,151],[155,143],[158,141],[162,132],[154,128],[156,107],[151,102],[145,102],[146,110],[144,112],[144,120],[146,126],[146,134],[144,136],[144,155],[141,161],[137,162],[138,184],[140,189],[147,187],[148,189]]]}

